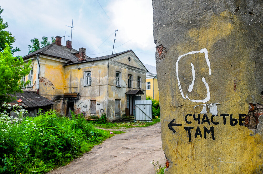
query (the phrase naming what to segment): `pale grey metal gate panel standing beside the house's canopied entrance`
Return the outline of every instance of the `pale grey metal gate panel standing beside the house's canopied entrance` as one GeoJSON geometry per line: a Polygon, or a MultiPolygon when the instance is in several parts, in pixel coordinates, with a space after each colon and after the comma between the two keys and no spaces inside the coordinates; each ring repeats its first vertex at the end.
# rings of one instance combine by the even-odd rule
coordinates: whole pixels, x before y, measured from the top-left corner
{"type": "Polygon", "coordinates": [[[135,121],[153,122],[151,100],[135,100],[135,121]]]}

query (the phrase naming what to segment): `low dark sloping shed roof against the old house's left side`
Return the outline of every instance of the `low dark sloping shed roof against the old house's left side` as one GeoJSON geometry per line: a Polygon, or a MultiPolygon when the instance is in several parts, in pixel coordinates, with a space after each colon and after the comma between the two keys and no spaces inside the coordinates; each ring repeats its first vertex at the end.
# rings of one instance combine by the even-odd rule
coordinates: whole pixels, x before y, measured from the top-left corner
{"type": "Polygon", "coordinates": [[[55,104],[52,100],[49,100],[41,95],[33,91],[23,91],[24,93],[16,93],[15,95],[11,95],[12,97],[16,97],[16,100],[11,101],[11,104],[19,104],[23,107],[41,107],[55,104]],[[21,99],[22,102],[18,102],[17,100],[21,99]]]}

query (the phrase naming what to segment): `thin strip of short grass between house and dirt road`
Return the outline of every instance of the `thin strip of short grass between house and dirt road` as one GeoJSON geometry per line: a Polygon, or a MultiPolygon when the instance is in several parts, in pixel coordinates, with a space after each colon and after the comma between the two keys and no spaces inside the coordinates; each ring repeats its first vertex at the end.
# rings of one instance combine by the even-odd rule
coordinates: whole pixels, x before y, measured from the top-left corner
{"type": "Polygon", "coordinates": [[[105,129],[119,129],[119,128],[130,128],[130,127],[146,127],[151,126],[155,123],[160,122],[160,118],[153,119],[153,122],[107,122],[105,124],[93,123],[94,126],[105,128],[105,129]]]}

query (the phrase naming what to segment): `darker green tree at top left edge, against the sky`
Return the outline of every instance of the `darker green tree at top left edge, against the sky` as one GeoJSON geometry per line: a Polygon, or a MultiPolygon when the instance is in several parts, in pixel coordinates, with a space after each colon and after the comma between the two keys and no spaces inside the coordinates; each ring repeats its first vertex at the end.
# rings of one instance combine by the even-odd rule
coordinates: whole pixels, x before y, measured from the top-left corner
{"type": "Polygon", "coordinates": [[[3,22],[3,18],[1,16],[1,13],[3,12],[3,9],[0,6],[0,52],[3,52],[4,48],[6,47],[5,43],[7,43],[10,47],[11,53],[13,54],[16,51],[20,51],[19,48],[13,48],[12,44],[14,43],[15,39],[12,36],[12,33],[9,31],[6,31],[5,29],[8,28],[7,22],[3,22]]]}

